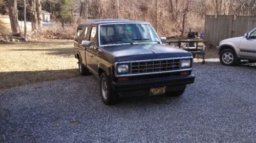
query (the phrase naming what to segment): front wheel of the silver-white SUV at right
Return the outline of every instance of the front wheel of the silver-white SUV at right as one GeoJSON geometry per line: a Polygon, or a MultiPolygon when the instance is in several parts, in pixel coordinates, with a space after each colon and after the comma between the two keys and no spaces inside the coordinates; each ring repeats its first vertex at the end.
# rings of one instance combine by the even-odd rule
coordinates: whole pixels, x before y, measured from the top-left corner
{"type": "Polygon", "coordinates": [[[237,64],[236,53],[231,49],[224,49],[220,53],[220,62],[225,66],[235,66],[237,64]]]}

